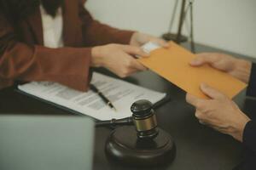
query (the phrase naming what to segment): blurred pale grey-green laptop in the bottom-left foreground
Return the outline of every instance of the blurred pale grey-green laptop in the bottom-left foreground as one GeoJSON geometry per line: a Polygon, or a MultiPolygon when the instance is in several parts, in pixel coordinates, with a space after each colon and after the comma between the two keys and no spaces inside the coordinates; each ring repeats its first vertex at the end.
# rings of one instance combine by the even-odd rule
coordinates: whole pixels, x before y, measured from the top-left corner
{"type": "Polygon", "coordinates": [[[85,116],[0,116],[0,169],[90,170],[93,139],[85,116]]]}

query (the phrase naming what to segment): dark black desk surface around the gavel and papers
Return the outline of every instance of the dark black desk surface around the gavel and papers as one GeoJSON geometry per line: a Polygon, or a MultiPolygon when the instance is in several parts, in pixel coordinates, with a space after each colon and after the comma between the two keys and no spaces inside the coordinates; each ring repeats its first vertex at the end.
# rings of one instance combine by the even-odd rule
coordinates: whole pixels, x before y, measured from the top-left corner
{"type": "MultiPolygon", "coordinates": [[[[186,46],[186,45],[185,45],[186,46]]],[[[197,45],[197,51],[217,51],[214,48],[197,45]]],[[[182,90],[151,71],[138,73],[126,79],[140,86],[171,94],[172,100],[157,110],[159,126],[170,133],[177,144],[177,156],[166,167],[151,167],[144,169],[172,170],[220,170],[232,169],[242,159],[242,146],[230,136],[218,133],[209,127],[201,125],[194,116],[195,109],[185,102],[182,90]]],[[[236,102],[248,114],[256,110],[256,101],[246,99],[245,93],[236,97],[236,102]]],[[[0,114],[26,113],[39,115],[67,115],[52,105],[47,105],[36,99],[31,99],[14,92],[13,88],[0,91],[0,114]]],[[[104,153],[105,141],[111,129],[96,128],[94,169],[142,169],[124,167],[108,161],[104,153]]]]}

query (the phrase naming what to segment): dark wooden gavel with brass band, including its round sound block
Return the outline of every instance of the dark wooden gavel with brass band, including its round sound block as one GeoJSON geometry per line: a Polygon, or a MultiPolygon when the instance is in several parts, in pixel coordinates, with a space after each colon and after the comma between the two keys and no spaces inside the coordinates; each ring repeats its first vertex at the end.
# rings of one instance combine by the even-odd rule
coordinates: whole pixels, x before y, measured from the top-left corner
{"type": "Polygon", "coordinates": [[[132,116],[125,119],[96,123],[98,127],[116,127],[105,145],[109,160],[128,166],[171,163],[176,154],[176,146],[171,135],[157,126],[152,103],[145,99],[138,100],[131,105],[131,112],[132,116]]]}

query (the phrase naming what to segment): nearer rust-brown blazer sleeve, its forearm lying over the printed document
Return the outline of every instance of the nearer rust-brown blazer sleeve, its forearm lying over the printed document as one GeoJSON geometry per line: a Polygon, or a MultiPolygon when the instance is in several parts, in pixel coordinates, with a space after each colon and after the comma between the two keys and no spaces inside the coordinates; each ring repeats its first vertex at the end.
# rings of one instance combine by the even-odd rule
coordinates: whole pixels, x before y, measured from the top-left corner
{"type": "Polygon", "coordinates": [[[59,82],[86,90],[90,48],[45,48],[19,42],[13,26],[0,13],[0,88],[14,80],[59,82]]]}

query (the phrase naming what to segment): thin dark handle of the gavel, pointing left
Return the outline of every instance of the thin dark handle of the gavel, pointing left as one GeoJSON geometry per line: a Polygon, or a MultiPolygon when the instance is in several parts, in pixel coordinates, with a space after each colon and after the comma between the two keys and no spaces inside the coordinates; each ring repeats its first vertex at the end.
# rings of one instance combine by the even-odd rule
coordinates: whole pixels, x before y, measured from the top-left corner
{"type": "Polygon", "coordinates": [[[96,127],[116,127],[118,125],[133,125],[132,117],[112,119],[110,121],[97,121],[96,127]]]}

